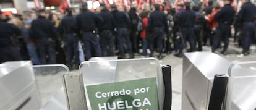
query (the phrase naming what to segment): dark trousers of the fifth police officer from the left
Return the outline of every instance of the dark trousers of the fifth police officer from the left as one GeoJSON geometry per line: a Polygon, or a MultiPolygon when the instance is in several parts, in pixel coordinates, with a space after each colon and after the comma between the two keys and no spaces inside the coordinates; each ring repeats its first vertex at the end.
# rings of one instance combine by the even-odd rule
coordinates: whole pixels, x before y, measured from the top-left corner
{"type": "Polygon", "coordinates": [[[100,33],[102,56],[114,56],[114,36],[110,30],[100,33]]]}

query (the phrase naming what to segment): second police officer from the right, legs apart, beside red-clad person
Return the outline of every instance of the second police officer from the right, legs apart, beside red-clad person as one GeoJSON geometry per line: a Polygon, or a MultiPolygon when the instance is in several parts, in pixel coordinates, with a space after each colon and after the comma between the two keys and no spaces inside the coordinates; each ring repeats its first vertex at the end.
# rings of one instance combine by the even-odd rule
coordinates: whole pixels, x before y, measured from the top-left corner
{"type": "Polygon", "coordinates": [[[229,44],[229,36],[231,36],[231,25],[233,23],[235,11],[231,6],[232,0],[225,0],[225,6],[215,14],[214,18],[218,22],[218,27],[216,28],[216,35],[213,38],[213,46],[211,51],[214,53],[218,48],[220,41],[224,40],[224,48],[221,51],[222,54],[226,54],[229,44]]]}

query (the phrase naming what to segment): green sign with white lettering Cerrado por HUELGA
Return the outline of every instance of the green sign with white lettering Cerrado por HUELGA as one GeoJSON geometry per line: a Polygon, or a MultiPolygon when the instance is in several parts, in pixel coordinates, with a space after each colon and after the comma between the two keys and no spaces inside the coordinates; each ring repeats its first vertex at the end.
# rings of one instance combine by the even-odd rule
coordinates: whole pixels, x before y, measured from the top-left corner
{"type": "Polygon", "coordinates": [[[158,109],[156,78],[87,86],[92,109],[158,109]]]}

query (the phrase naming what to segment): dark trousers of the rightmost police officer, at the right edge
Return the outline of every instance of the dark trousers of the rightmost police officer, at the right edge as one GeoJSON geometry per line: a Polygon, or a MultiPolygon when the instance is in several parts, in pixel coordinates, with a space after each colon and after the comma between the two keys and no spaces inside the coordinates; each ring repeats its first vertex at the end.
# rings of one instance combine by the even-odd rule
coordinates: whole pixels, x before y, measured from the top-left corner
{"type": "Polygon", "coordinates": [[[252,39],[255,37],[255,25],[253,22],[247,22],[244,26],[244,36],[242,37],[243,53],[249,51],[252,39]]]}

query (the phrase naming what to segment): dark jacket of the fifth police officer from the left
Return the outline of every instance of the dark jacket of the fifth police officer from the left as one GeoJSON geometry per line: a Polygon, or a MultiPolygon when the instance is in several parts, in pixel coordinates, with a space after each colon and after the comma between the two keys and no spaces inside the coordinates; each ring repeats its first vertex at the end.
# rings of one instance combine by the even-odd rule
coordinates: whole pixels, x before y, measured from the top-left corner
{"type": "Polygon", "coordinates": [[[108,9],[103,9],[99,14],[104,22],[100,24],[99,30],[100,32],[103,30],[111,30],[113,31],[116,27],[116,22],[114,21],[113,15],[108,11],[108,9]]]}

